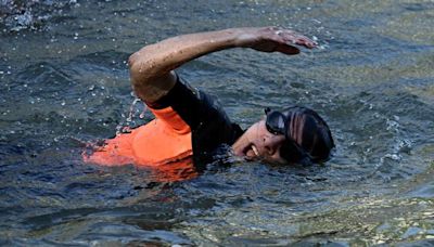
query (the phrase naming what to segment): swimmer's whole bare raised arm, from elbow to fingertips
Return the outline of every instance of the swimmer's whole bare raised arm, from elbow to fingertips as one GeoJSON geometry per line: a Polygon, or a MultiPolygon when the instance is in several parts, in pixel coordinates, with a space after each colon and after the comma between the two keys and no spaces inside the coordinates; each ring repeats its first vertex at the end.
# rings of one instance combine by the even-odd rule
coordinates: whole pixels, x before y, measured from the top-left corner
{"type": "Polygon", "coordinates": [[[289,55],[299,53],[293,44],[309,49],[317,46],[303,35],[278,27],[230,28],[177,36],[143,47],[129,57],[132,88],[141,100],[155,102],[175,86],[173,69],[199,56],[230,48],[289,55]]]}

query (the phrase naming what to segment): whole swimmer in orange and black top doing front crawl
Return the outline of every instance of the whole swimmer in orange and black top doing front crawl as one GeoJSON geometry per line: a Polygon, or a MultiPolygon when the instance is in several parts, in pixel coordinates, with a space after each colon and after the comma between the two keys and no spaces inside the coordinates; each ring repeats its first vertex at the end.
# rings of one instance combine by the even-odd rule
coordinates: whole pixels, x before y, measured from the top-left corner
{"type": "Polygon", "coordinates": [[[282,105],[267,108],[261,119],[242,130],[231,122],[217,100],[189,86],[175,69],[196,57],[233,48],[286,55],[296,47],[317,43],[279,27],[230,28],[181,35],[149,44],[129,57],[132,89],[155,119],[106,140],[88,162],[115,166],[162,166],[184,160],[193,164],[214,154],[222,144],[246,160],[270,164],[312,164],[329,158],[334,147],[326,121],[312,109],[282,105]]]}

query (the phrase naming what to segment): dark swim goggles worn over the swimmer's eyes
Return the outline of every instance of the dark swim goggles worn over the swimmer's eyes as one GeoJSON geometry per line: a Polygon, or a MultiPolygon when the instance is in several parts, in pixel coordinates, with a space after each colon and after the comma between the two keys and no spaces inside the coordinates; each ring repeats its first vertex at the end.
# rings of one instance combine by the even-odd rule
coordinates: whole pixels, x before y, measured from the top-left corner
{"type": "Polygon", "coordinates": [[[311,164],[315,158],[308,154],[305,148],[299,146],[288,133],[288,117],[278,110],[271,110],[270,108],[265,108],[266,121],[265,125],[267,130],[276,135],[284,135],[285,141],[279,148],[280,157],[289,162],[298,162],[305,165],[311,164]]]}

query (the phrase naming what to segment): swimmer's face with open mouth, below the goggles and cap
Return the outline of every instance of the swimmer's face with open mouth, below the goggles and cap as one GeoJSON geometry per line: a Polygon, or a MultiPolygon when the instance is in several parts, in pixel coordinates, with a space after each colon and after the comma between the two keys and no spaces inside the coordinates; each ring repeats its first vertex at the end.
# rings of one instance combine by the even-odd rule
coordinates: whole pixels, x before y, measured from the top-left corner
{"type": "Polygon", "coordinates": [[[264,160],[270,164],[288,164],[280,156],[279,150],[285,136],[273,134],[267,130],[265,120],[251,126],[232,145],[233,153],[244,156],[247,160],[264,160]]]}

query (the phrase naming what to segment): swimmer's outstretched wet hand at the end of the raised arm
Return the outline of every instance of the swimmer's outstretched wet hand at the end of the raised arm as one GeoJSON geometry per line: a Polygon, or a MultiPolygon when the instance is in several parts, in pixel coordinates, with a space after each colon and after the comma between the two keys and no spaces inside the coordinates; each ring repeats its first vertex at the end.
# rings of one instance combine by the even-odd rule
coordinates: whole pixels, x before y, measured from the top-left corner
{"type": "Polygon", "coordinates": [[[311,49],[318,44],[304,35],[279,27],[237,28],[237,46],[252,48],[261,52],[281,52],[288,55],[298,54],[294,44],[311,49]]]}

